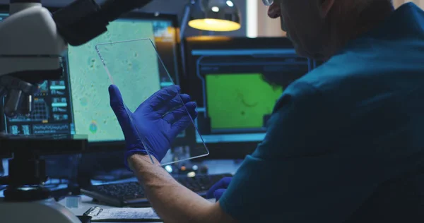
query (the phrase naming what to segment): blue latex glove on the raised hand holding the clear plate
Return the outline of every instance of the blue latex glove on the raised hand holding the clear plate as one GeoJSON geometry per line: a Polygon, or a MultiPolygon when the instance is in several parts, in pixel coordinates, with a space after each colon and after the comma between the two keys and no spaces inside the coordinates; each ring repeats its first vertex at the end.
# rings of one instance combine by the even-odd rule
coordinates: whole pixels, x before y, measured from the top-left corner
{"type": "Polygon", "coordinates": [[[160,162],[177,135],[192,123],[192,119],[196,119],[196,103],[190,102],[189,95],[179,94],[179,91],[177,85],[163,88],[141,103],[136,111],[131,112],[124,105],[117,86],[110,85],[110,106],[125,136],[124,163],[128,169],[128,157],[136,153],[148,154],[142,140],[150,155],[160,162]],[[182,107],[182,102],[185,107],[182,107]],[[179,108],[174,109],[175,107],[179,108]]]}

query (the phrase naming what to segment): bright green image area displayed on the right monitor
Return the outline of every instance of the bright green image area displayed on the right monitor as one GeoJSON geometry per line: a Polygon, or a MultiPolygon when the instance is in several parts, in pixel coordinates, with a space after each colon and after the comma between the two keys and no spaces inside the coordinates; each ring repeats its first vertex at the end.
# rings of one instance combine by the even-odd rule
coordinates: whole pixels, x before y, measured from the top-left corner
{"type": "Polygon", "coordinates": [[[211,129],[263,128],[282,92],[266,83],[261,73],[206,75],[211,129]]]}

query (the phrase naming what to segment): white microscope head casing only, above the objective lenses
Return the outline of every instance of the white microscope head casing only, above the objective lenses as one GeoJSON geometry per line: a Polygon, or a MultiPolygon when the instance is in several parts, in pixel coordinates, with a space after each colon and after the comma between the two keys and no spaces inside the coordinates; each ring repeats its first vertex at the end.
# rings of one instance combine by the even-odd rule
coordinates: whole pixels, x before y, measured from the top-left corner
{"type": "Polygon", "coordinates": [[[17,10],[0,23],[0,76],[61,71],[61,56],[68,44],[59,35],[52,14],[41,4],[17,10]]]}

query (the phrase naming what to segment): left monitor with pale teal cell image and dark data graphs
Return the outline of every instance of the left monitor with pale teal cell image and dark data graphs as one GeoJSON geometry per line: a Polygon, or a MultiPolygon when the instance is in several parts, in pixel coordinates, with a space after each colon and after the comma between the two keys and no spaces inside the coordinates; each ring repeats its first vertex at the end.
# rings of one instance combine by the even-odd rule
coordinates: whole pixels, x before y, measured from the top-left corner
{"type": "MultiPolygon", "coordinates": [[[[2,15],[7,16],[7,13],[2,15]]],[[[122,149],[124,135],[119,126],[116,126],[116,117],[110,108],[107,93],[111,82],[95,51],[95,44],[151,38],[167,71],[178,84],[181,66],[177,32],[175,15],[132,12],[111,22],[108,31],[94,40],[78,47],[69,46],[64,63],[64,77],[61,80],[45,80],[40,85],[34,95],[33,112],[30,116],[4,116],[6,132],[25,135],[84,134],[88,135],[91,147],[122,149]]],[[[122,66],[127,68],[129,65],[122,66]]],[[[152,66],[158,66],[156,70],[161,81],[158,90],[170,85],[167,72],[159,61],[152,66]]],[[[189,135],[193,135],[194,142],[194,131],[190,131],[192,130],[181,133],[176,144],[179,144],[179,140],[186,143],[189,135]]]]}

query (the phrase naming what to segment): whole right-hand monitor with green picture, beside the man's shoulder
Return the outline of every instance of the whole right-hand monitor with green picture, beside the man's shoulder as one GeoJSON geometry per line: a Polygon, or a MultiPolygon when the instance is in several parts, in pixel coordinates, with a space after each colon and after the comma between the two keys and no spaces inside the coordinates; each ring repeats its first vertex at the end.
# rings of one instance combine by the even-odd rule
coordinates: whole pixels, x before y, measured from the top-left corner
{"type": "MultiPolygon", "coordinates": [[[[281,94],[314,61],[295,54],[284,37],[189,37],[189,92],[198,104],[196,124],[210,156],[220,149],[254,150],[281,94]]],[[[197,138],[200,142],[200,138],[197,138]]],[[[240,152],[246,155],[246,152],[240,152]]]]}

